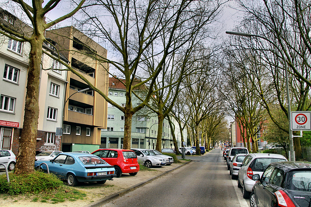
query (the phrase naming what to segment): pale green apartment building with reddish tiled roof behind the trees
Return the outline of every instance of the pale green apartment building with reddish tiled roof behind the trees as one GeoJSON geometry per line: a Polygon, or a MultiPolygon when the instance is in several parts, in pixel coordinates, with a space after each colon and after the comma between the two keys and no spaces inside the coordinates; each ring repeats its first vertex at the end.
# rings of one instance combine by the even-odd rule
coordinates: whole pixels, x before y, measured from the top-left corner
{"type": "MultiPolygon", "coordinates": [[[[125,81],[125,80],[122,80],[125,81]]],[[[139,92],[138,92],[139,93],[139,92]]],[[[125,105],[125,86],[120,80],[116,78],[109,78],[108,96],[114,102],[125,105]]],[[[140,103],[138,98],[133,97],[133,106],[140,103]]],[[[181,147],[181,135],[176,120],[173,120],[175,126],[175,136],[178,147],[181,147]]],[[[150,110],[142,109],[134,114],[132,118],[132,133],[131,133],[131,147],[132,148],[148,148],[155,149],[157,131],[157,116],[150,110]]],[[[173,147],[172,132],[165,119],[163,122],[162,132],[162,148],[173,147]]],[[[184,137],[187,137],[186,131],[183,132],[184,137]]],[[[107,108],[107,128],[102,130],[100,148],[122,148],[124,136],[124,114],[114,106],[108,103],[107,108]]]]}

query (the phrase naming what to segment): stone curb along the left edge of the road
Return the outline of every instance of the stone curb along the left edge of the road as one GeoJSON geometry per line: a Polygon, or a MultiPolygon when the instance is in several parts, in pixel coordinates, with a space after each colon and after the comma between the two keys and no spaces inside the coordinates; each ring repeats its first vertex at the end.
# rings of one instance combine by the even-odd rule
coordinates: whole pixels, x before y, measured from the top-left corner
{"type": "Polygon", "coordinates": [[[120,197],[121,195],[124,195],[127,192],[133,191],[133,190],[135,190],[135,189],[137,189],[137,188],[139,188],[141,186],[144,186],[145,184],[150,183],[151,181],[154,181],[155,179],[157,179],[159,177],[162,177],[163,175],[166,175],[166,174],[168,174],[168,173],[170,173],[170,172],[172,172],[172,171],[174,171],[174,170],[176,170],[176,169],[178,169],[178,168],[180,168],[182,166],[185,166],[186,164],[189,164],[190,162],[192,162],[192,160],[190,160],[189,162],[186,162],[186,163],[184,163],[184,164],[182,164],[182,165],[180,165],[178,167],[175,167],[172,170],[166,171],[166,172],[164,172],[164,173],[162,173],[160,175],[157,175],[157,176],[155,176],[153,178],[150,178],[150,179],[148,179],[146,181],[138,183],[138,184],[136,184],[136,185],[134,185],[134,186],[132,186],[130,188],[127,188],[127,189],[124,189],[124,190],[122,190],[120,192],[108,195],[108,196],[104,197],[103,199],[95,201],[94,203],[88,204],[88,205],[86,205],[84,207],[100,207],[100,206],[104,205],[105,203],[108,203],[109,201],[111,201],[113,199],[116,199],[116,198],[120,197]]]}

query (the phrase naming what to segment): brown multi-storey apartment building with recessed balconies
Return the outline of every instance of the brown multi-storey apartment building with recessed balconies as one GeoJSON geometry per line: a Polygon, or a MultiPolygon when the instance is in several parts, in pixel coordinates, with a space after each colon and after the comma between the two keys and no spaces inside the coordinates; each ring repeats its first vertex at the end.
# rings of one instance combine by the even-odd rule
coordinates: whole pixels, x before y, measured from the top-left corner
{"type": "MultiPolygon", "coordinates": [[[[96,52],[106,58],[107,50],[73,27],[48,31],[46,36],[57,42],[59,51],[91,84],[108,93],[108,64],[101,64],[82,53],[96,52]]],[[[67,74],[63,111],[62,151],[99,149],[101,130],[107,125],[107,102],[89,90],[85,81],[72,72],[67,74]]]]}

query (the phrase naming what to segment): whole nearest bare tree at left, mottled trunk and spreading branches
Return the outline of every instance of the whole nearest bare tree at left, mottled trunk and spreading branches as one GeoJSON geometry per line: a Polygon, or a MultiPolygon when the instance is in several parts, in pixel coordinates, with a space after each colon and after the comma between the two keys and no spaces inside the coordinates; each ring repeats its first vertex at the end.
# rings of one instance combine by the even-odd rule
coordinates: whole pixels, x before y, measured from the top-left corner
{"type": "Polygon", "coordinates": [[[25,101],[25,113],[23,121],[23,130],[19,140],[17,155],[17,164],[15,174],[27,174],[34,171],[35,162],[35,144],[37,136],[37,125],[39,116],[38,96],[39,96],[39,76],[40,64],[42,57],[42,44],[45,39],[45,31],[53,25],[73,16],[84,4],[85,0],[77,1],[77,6],[68,14],[61,16],[50,22],[46,22],[45,16],[52,12],[60,2],[59,0],[50,0],[43,5],[43,0],[32,1],[32,5],[23,0],[12,0],[17,3],[18,7],[24,12],[29,20],[32,30],[22,28],[8,27],[1,23],[0,33],[19,42],[28,42],[30,44],[29,67],[27,78],[27,92],[25,101]],[[25,33],[28,32],[28,33],[25,33]]]}

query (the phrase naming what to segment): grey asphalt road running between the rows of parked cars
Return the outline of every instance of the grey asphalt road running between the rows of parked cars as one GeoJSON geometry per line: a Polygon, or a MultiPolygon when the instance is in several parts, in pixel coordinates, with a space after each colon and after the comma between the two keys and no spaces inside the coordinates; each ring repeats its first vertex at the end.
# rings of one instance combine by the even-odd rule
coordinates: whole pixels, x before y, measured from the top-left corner
{"type": "Polygon", "coordinates": [[[102,207],[248,207],[237,180],[231,180],[222,151],[187,156],[190,164],[102,207]]]}

